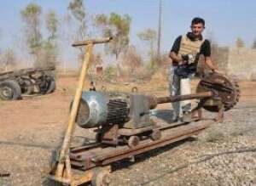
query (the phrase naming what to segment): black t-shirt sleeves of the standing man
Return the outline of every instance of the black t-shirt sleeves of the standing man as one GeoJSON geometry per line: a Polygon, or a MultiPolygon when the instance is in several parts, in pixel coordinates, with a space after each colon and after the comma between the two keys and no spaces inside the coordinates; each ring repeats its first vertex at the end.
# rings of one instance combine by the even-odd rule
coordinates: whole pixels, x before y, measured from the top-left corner
{"type": "MultiPolygon", "coordinates": [[[[178,54],[181,40],[182,36],[176,38],[172,45],[171,52],[178,54]]],[[[207,39],[201,44],[200,54],[203,54],[205,57],[211,56],[211,44],[207,39]]]]}

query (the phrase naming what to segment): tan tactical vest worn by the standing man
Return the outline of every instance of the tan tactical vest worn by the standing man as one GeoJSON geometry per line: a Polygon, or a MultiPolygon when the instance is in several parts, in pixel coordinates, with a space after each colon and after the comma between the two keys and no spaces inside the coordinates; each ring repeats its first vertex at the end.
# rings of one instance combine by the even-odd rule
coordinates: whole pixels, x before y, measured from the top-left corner
{"type": "Polygon", "coordinates": [[[178,54],[192,54],[195,58],[199,56],[201,45],[204,40],[191,41],[189,37],[183,36],[180,42],[178,54]]]}

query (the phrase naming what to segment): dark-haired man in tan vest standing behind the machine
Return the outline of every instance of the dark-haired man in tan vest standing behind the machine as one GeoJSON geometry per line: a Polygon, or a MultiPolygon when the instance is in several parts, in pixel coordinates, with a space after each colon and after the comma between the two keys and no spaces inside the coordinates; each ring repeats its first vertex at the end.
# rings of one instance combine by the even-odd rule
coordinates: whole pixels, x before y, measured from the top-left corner
{"type": "MultiPolygon", "coordinates": [[[[170,69],[170,93],[183,95],[191,93],[190,78],[195,75],[198,59],[202,54],[205,63],[212,70],[211,45],[201,35],[205,29],[205,20],[194,18],[191,22],[191,32],[179,36],[173,43],[169,57],[172,59],[170,69]]],[[[181,101],[172,104],[173,121],[189,121],[191,119],[191,101],[181,101]]]]}

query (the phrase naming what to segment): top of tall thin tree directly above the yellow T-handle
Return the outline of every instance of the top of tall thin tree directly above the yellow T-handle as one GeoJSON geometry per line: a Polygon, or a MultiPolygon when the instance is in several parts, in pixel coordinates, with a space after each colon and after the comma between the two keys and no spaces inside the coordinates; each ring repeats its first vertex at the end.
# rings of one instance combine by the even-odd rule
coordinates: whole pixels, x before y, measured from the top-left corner
{"type": "Polygon", "coordinates": [[[84,40],[86,37],[86,14],[83,0],[73,0],[69,3],[68,10],[79,24],[79,28],[76,34],[76,40],[84,40]]]}

